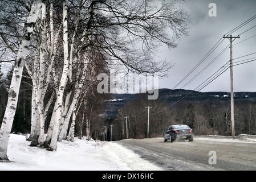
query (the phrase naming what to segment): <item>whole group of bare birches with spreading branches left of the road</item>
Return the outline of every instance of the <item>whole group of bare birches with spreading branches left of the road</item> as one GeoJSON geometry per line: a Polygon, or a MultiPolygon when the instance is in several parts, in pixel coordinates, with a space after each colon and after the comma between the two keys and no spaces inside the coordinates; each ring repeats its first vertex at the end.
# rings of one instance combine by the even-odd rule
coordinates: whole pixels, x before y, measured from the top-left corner
{"type": "Polygon", "coordinates": [[[91,135],[106,99],[96,92],[99,73],[165,75],[172,65],[152,53],[188,35],[189,15],[180,2],[1,1],[0,58],[13,66],[1,84],[0,160],[8,160],[18,118],[29,123],[23,130],[30,129],[31,146],[50,151],[62,139],[73,140],[75,130],[80,138],[84,127],[91,135]]]}

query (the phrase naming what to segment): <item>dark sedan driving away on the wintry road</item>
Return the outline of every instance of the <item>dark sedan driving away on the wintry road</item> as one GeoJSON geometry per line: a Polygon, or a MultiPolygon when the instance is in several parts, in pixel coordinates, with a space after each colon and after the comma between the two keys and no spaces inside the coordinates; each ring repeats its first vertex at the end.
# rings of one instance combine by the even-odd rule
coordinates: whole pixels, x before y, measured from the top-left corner
{"type": "Polygon", "coordinates": [[[187,125],[171,125],[164,133],[164,142],[170,140],[173,142],[176,139],[188,139],[190,142],[194,139],[193,130],[187,125]]]}

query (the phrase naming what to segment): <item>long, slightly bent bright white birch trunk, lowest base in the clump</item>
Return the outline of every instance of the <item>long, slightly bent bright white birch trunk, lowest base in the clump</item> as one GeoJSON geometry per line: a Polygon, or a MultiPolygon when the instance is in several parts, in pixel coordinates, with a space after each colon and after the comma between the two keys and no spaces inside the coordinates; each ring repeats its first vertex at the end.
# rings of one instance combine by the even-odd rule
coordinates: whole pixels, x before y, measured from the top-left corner
{"type": "Polygon", "coordinates": [[[56,150],[57,149],[57,140],[58,140],[58,131],[59,131],[59,123],[62,114],[62,105],[63,105],[63,93],[64,88],[66,86],[66,81],[68,77],[68,68],[69,68],[69,60],[68,60],[68,26],[67,26],[67,3],[63,0],[63,48],[64,48],[64,67],[62,77],[60,79],[59,90],[57,94],[56,100],[56,111],[55,111],[55,123],[52,130],[51,143],[48,150],[56,150]]]}

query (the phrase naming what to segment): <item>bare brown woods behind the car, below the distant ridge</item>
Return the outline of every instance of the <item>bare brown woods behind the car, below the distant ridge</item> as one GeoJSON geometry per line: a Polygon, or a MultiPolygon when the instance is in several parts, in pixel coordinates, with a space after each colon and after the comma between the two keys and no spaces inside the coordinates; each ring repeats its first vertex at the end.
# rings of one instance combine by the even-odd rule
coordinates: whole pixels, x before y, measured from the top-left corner
{"type": "MultiPolygon", "coordinates": [[[[151,106],[149,117],[149,137],[162,137],[165,129],[174,124],[185,124],[192,127],[195,135],[231,136],[230,101],[229,99],[212,98],[202,101],[181,100],[147,100],[137,98],[128,101],[117,110],[115,118],[107,119],[103,124],[108,127],[108,140],[127,138],[147,138],[148,106],[151,106]],[[126,125],[126,118],[127,125],[126,125]]],[[[235,101],[235,135],[256,134],[256,103],[251,100],[235,101]]]]}

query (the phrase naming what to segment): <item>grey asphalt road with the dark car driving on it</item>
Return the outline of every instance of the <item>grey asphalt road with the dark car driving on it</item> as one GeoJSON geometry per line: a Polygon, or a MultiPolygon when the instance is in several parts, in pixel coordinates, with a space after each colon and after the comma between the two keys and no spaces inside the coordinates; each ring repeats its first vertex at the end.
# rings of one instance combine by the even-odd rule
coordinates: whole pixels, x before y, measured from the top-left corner
{"type": "Polygon", "coordinates": [[[193,142],[170,143],[162,138],[151,138],[120,140],[117,143],[166,171],[256,170],[256,143],[253,142],[195,137],[193,142]]]}

